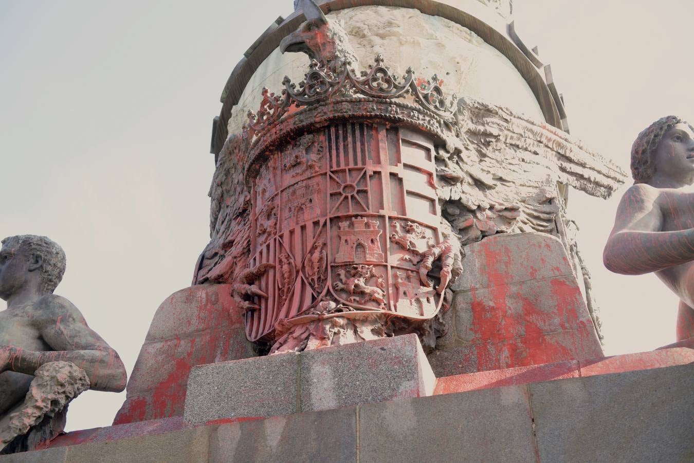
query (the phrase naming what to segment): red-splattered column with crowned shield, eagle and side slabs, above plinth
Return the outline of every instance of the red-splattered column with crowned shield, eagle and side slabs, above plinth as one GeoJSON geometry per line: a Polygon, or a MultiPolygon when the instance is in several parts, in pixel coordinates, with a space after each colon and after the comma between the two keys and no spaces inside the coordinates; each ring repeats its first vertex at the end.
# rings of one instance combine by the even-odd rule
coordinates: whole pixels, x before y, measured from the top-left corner
{"type": "Polygon", "coordinates": [[[195,364],[407,333],[437,375],[602,355],[566,200],[570,187],[607,197],[625,174],[563,130],[556,88],[535,85],[515,31],[525,51],[499,44],[506,57],[453,23],[455,8],[297,5],[225,90],[236,103],[215,121],[210,243],[194,286],[172,296],[202,297],[230,325],[214,326],[207,302],[162,305],[115,422],[180,416],[195,364]],[[415,33],[450,47],[401,55],[415,33]],[[506,89],[473,91],[453,49],[507,73],[516,110],[483,101],[506,89]]]}

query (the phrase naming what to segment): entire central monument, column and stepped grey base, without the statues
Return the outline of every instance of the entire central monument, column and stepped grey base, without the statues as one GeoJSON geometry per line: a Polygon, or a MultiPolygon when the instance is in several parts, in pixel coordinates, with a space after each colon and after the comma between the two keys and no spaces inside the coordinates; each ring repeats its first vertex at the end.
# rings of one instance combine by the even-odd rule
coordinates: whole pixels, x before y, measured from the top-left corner
{"type": "Polygon", "coordinates": [[[626,176],[568,135],[511,1],[295,7],[223,90],[210,242],[114,426],[30,456],[692,455],[694,351],[602,353],[566,204],[626,176]]]}

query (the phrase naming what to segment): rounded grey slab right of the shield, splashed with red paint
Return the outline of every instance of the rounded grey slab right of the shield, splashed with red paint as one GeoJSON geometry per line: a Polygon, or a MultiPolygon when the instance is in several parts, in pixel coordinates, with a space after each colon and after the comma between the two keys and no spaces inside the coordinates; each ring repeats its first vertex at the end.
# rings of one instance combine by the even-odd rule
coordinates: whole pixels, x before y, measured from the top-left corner
{"type": "Polygon", "coordinates": [[[495,235],[466,246],[452,326],[429,355],[437,376],[602,357],[558,239],[495,235]]]}

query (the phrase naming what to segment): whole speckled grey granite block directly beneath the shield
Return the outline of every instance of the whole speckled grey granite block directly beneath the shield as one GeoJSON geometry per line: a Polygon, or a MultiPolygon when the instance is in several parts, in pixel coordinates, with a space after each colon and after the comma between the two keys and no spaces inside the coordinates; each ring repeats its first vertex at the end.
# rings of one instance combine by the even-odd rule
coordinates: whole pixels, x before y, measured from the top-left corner
{"type": "Polygon", "coordinates": [[[429,396],[436,378],[416,335],[194,367],[188,423],[278,416],[429,396]]]}

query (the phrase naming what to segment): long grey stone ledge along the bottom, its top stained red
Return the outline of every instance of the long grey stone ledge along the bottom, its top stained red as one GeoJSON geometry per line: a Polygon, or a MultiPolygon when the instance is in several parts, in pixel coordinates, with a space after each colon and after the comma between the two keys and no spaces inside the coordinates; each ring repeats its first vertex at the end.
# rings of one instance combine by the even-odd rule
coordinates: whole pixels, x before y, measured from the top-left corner
{"type": "MultiPolygon", "coordinates": [[[[693,350],[677,348],[484,371],[439,378],[429,397],[70,432],[0,463],[690,461],[693,362],[693,350]]],[[[330,384],[329,373],[321,377],[330,384]]]]}

